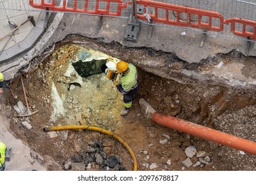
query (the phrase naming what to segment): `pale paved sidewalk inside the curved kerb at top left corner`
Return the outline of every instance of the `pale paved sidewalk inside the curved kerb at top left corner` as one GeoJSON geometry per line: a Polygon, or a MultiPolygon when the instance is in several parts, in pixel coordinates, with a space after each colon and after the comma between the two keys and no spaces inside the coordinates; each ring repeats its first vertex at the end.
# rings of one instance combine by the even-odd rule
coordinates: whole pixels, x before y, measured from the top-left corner
{"type": "MultiPolygon", "coordinates": [[[[0,3],[2,7],[9,6],[9,1],[1,1],[0,3]]],[[[32,49],[45,30],[44,12],[28,11],[26,7],[28,5],[24,2],[16,6],[20,6],[20,10],[1,9],[0,11],[0,63],[5,63],[32,49]],[[28,16],[33,17],[34,22],[36,22],[35,26],[30,21],[26,22],[28,16]],[[24,24],[24,22],[26,23],[24,24]],[[12,25],[18,26],[18,29],[14,29],[15,26],[12,25]]]]}

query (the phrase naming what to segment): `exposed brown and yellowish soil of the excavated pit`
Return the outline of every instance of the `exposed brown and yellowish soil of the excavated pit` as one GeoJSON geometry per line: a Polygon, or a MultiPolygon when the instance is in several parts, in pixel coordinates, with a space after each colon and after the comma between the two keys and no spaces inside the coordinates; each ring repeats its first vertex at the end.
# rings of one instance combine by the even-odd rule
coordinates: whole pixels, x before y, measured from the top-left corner
{"type": "MultiPolygon", "coordinates": [[[[158,167],[152,170],[256,170],[254,155],[241,154],[239,150],[159,126],[143,117],[138,103],[143,98],[158,112],[256,141],[255,90],[228,86],[218,79],[197,81],[181,72],[216,72],[215,66],[222,59],[225,67],[231,67],[230,70],[236,69],[234,64],[245,64],[243,73],[247,78],[255,80],[256,76],[252,72],[255,58],[247,58],[238,51],[233,51],[228,55],[220,54],[202,60],[201,64],[188,64],[172,53],[147,48],[124,48],[117,43],[103,44],[100,40],[81,39],[72,35],[62,43],[57,43],[51,55],[35,58],[30,71],[22,76],[30,111],[39,111],[26,118],[16,118],[17,114],[13,109],[13,114],[10,115],[13,116],[11,130],[38,153],[36,158],[41,159],[48,170],[86,170],[69,165],[68,162],[84,162],[88,153],[92,157],[101,153],[101,156],[105,155],[102,156],[105,161],[101,163],[99,160],[92,160],[90,167],[86,164],[87,170],[133,170],[128,150],[108,135],[97,131],[68,130],[59,131],[57,137],[51,138],[49,133],[43,131],[43,127],[64,125],[97,126],[112,131],[134,151],[138,170],[150,170],[149,165],[154,162],[158,167]],[[80,40],[79,43],[77,40],[80,40]],[[128,116],[120,116],[121,94],[105,78],[104,73],[82,78],[82,85],[74,85],[73,89],[70,89],[72,81],[64,82],[68,60],[75,58],[77,53],[77,47],[69,45],[70,43],[90,47],[136,64],[140,92],[128,116]],[[147,63],[142,62],[143,60],[147,63]],[[63,114],[57,113],[55,116],[53,83],[64,108],[63,114]],[[32,129],[22,126],[24,121],[31,124],[32,129]],[[67,137],[64,132],[68,133],[67,137]],[[182,161],[188,158],[184,150],[191,145],[197,151],[209,153],[210,164],[184,168],[182,161]],[[88,152],[88,147],[94,150],[88,152]],[[115,156],[118,165],[107,166],[107,156],[115,156]],[[170,162],[166,164],[168,160],[170,162]]],[[[224,68],[222,70],[224,72],[224,68]]],[[[18,100],[25,104],[20,76],[11,81],[11,87],[18,100]]],[[[5,104],[14,106],[11,93],[5,93],[5,99],[5,104]]],[[[197,162],[195,156],[191,160],[193,164],[197,162]]]]}

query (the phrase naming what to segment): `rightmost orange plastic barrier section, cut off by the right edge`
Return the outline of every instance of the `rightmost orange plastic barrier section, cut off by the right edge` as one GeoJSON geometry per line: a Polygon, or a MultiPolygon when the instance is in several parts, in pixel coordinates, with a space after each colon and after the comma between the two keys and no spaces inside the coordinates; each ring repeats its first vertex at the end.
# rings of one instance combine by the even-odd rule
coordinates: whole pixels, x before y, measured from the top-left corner
{"type": "Polygon", "coordinates": [[[249,39],[256,39],[256,22],[253,20],[246,20],[243,18],[230,18],[226,22],[231,23],[231,32],[235,35],[246,37],[249,39]],[[242,31],[236,29],[241,28],[242,31]],[[251,30],[249,30],[251,28],[251,30]]]}

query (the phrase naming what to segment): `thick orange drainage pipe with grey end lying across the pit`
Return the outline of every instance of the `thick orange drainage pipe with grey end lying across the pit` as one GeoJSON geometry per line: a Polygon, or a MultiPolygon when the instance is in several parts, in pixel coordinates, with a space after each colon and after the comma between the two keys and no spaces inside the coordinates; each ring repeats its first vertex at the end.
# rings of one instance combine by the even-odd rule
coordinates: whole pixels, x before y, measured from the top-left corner
{"type": "Polygon", "coordinates": [[[153,122],[161,126],[176,129],[185,133],[190,133],[191,135],[195,135],[202,139],[207,139],[227,147],[243,150],[245,152],[256,155],[256,143],[253,141],[242,139],[228,133],[223,133],[222,131],[211,129],[209,127],[193,124],[192,122],[187,122],[173,116],[160,114],[156,112],[144,99],[140,99],[139,103],[144,116],[146,118],[150,118],[153,120],[153,122]]]}

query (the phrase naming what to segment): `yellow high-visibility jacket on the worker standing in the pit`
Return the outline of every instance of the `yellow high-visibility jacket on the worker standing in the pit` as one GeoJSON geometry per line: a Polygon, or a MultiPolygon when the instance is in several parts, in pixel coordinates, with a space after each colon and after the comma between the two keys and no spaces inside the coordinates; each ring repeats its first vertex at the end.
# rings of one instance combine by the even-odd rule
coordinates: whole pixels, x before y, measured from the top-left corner
{"type": "Polygon", "coordinates": [[[122,85],[122,88],[119,89],[119,91],[122,94],[127,94],[129,91],[134,89],[137,85],[137,70],[136,66],[134,64],[129,63],[128,64],[129,72],[128,74],[122,74],[120,78],[120,85],[122,85]]]}

